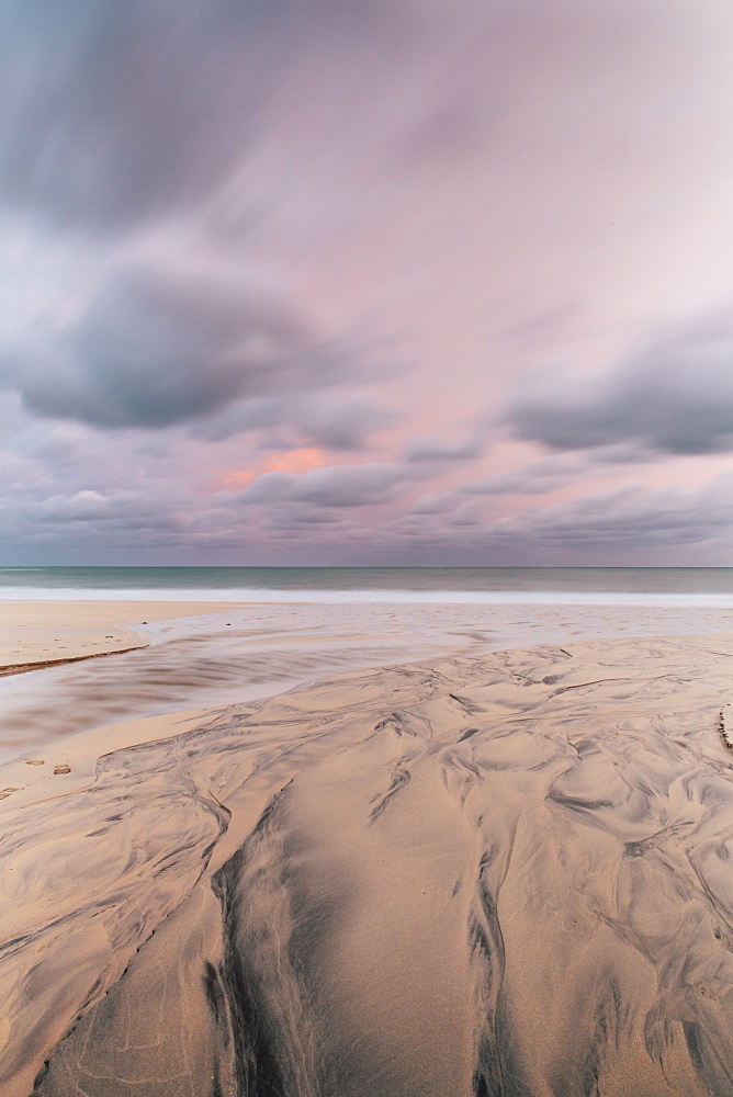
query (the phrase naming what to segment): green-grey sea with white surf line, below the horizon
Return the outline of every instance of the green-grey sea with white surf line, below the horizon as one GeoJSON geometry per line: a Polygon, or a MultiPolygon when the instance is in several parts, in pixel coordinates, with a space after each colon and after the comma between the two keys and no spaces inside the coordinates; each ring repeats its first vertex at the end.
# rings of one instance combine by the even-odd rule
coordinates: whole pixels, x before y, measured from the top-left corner
{"type": "Polygon", "coordinates": [[[1,567],[0,600],[733,606],[733,567],[1,567]]]}

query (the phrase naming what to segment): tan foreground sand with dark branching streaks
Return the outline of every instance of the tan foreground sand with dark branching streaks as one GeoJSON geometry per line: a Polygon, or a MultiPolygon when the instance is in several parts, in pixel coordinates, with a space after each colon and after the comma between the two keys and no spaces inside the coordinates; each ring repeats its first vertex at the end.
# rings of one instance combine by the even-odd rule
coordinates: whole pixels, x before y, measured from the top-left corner
{"type": "Polygon", "coordinates": [[[10,795],[0,1092],[733,1093],[732,671],[347,672],[10,795]]]}

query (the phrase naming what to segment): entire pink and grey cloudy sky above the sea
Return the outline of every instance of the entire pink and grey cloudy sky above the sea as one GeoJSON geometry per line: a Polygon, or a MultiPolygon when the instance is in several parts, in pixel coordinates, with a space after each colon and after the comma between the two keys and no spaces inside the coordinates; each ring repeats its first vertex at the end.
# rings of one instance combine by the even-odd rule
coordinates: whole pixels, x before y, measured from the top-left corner
{"type": "Polygon", "coordinates": [[[729,0],[0,27],[0,563],[733,565],[729,0]]]}

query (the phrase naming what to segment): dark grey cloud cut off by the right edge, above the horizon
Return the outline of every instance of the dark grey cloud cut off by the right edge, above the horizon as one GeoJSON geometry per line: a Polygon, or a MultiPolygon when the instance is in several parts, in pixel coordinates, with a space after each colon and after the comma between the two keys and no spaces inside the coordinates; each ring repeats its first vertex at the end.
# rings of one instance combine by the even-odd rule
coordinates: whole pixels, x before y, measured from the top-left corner
{"type": "Polygon", "coordinates": [[[509,406],[520,438],[559,450],[628,442],[638,457],[733,450],[733,321],[661,339],[593,387],[555,381],[509,406]]]}

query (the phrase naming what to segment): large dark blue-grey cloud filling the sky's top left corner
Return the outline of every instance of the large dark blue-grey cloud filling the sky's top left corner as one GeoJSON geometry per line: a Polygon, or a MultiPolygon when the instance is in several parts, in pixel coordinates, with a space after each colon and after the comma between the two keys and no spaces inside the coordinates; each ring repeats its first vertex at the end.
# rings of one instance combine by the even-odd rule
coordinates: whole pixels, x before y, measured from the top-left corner
{"type": "Polygon", "coordinates": [[[106,229],[206,199],[271,123],[312,44],[368,34],[382,0],[8,0],[0,196],[106,229]]]}

